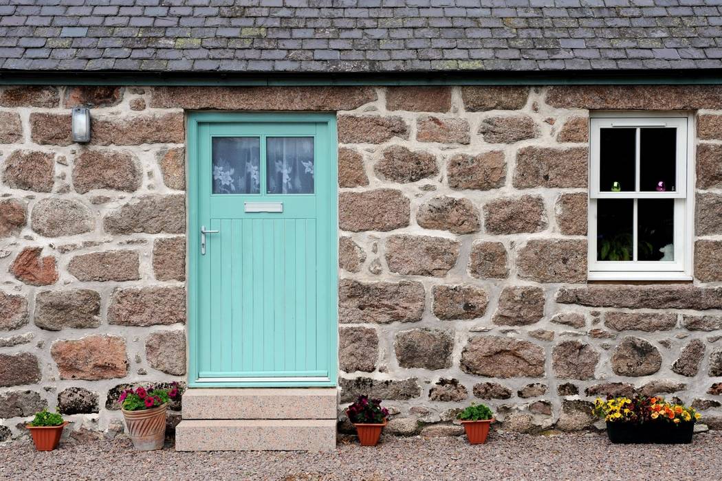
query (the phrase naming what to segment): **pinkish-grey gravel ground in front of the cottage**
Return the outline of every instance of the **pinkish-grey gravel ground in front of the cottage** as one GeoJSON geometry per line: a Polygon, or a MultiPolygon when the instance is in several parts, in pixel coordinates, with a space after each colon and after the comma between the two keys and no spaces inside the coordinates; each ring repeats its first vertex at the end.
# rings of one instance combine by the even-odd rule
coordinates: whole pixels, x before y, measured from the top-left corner
{"type": "Polygon", "coordinates": [[[375,448],[341,441],[326,454],[133,451],[127,439],[68,441],[35,452],[0,446],[2,480],[719,480],[722,433],[691,445],[612,445],[597,434],[466,438],[383,438],[375,448]]]}

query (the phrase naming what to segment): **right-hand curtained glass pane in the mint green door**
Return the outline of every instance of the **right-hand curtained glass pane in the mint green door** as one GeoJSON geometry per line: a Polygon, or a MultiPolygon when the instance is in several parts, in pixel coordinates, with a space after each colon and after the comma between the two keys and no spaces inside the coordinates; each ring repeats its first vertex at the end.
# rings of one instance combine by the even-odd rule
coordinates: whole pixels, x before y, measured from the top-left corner
{"type": "Polygon", "coordinates": [[[269,194],[313,194],[313,137],[266,139],[269,194]]]}

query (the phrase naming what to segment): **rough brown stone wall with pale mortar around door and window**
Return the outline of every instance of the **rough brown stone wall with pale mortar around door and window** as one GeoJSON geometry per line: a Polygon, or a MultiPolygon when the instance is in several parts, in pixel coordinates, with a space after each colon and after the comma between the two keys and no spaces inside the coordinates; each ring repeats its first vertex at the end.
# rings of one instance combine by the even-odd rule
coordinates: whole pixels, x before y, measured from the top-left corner
{"type": "Polygon", "coordinates": [[[196,109],[338,112],[342,404],[382,397],[402,434],[458,433],[472,401],[574,431],[638,389],[722,426],[720,87],[6,87],[0,438],[43,405],[116,429],[119,387],[183,381],[196,109]],[[696,113],[693,283],[586,283],[590,109],[696,113]]]}

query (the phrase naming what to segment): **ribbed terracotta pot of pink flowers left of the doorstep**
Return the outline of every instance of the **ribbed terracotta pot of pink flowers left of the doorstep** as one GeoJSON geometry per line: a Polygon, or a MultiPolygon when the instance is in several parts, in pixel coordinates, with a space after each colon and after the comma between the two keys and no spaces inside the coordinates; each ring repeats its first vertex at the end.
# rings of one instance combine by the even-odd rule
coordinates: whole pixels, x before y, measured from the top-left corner
{"type": "Polygon", "coordinates": [[[165,441],[165,410],[168,402],[178,397],[178,384],[170,388],[157,386],[126,389],[118,401],[128,435],[138,451],[162,449],[165,441]]]}

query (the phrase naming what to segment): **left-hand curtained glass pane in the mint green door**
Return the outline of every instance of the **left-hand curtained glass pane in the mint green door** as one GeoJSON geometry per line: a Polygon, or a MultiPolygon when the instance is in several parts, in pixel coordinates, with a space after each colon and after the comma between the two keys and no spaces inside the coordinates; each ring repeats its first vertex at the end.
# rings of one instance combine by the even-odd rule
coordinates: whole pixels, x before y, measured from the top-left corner
{"type": "Polygon", "coordinates": [[[261,193],[261,139],[214,137],[211,144],[214,194],[261,193]]]}

